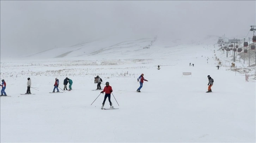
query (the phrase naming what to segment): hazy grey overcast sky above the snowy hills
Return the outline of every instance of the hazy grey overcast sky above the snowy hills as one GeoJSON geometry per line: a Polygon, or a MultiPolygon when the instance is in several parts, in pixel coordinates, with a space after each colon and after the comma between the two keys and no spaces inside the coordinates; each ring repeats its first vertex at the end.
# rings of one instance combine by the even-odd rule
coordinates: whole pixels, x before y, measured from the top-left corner
{"type": "Polygon", "coordinates": [[[1,56],[109,37],[245,37],[256,25],[252,0],[1,1],[0,6],[1,56]]]}

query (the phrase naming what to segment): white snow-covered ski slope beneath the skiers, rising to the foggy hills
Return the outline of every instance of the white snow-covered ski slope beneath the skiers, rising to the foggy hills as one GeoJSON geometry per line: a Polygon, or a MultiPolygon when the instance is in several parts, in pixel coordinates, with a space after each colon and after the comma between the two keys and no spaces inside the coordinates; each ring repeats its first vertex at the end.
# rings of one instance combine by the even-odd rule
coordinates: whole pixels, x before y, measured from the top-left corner
{"type": "Polygon", "coordinates": [[[1,59],[0,76],[11,96],[0,98],[1,142],[256,142],[253,68],[246,70],[249,82],[244,71],[231,70],[218,36],[190,44],[159,38],[143,49],[152,40],[80,43],[1,59]],[[88,53],[87,46],[94,50],[88,53]],[[223,63],[219,70],[214,54],[223,63]],[[142,73],[148,82],[137,93],[142,73]],[[97,75],[112,86],[119,109],[100,109],[104,95],[92,91],[97,75]],[[214,79],[212,93],[206,93],[207,75],[214,79]],[[39,91],[20,95],[28,77],[39,91]],[[66,77],[72,79],[73,90],[49,93],[56,77],[61,89],[66,77]]]}

